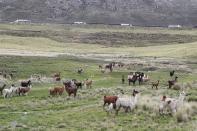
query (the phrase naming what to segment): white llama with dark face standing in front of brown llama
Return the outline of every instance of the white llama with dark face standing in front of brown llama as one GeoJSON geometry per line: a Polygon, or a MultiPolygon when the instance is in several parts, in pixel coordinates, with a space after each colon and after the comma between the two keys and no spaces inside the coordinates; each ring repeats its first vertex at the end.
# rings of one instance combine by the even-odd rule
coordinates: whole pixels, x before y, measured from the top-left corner
{"type": "Polygon", "coordinates": [[[133,97],[120,97],[116,101],[116,115],[118,115],[118,111],[121,107],[125,109],[125,112],[128,112],[128,110],[133,110],[137,104],[137,96],[138,91],[135,89],[133,90],[133,97]]]}

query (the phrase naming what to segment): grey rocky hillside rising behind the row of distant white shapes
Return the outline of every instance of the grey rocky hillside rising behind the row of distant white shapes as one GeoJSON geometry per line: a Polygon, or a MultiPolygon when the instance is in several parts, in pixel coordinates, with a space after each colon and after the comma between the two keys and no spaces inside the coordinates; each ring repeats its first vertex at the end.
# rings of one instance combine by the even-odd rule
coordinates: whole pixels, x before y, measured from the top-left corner
{"type": "Polygon", "coordinates": [[[0,0],[0,21],[196,25],[196,0],[0,0]]]}

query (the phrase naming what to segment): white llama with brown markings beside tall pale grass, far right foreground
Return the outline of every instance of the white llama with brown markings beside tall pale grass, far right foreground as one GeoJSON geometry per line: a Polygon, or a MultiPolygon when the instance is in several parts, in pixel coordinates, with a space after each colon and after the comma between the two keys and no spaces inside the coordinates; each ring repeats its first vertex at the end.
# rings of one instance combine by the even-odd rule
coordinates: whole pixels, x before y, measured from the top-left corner
{"type": "Polygon", "coordinates": [[[186,93],[184,91],[180,93],[178,99],[163,96],[162,102],[159,107],[159,112],[163,113],[163,110],[168,108],[173,114],[176,113],[178,108],[183,106],[183,101],[185,99],[185,96],[186,93]]]}

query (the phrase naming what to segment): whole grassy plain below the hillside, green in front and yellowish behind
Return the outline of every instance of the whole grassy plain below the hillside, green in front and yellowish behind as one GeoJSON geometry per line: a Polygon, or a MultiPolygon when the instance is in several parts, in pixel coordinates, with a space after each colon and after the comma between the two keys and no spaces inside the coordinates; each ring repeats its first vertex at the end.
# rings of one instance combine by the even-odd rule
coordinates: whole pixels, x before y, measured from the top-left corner
{"type": "MultiPolygon", "coordinates": [[[[0,98],[0,130],[84,130],[84,131],[196,131],[197,124],[197,86],[193,83],[197,80],[196,71],[196,48],[197,30],[169,30],[163,28],[123,28],[109,26],[65,26],[65,25],[7,25],[0,24],[0,51],[31,51],[32,53],[53,52],[67,53],[72,56],[61,55],[58,57],[35,57],[35,56],[0,56],[0,71],[14,71],[14,79],[6,83],[19,85],[19,80],[28,79],[32,74],[42,74],[50,77],[55,72],[61,72],[63,79],[93,80],[92,89],[79,89],[77,97],[74,99],[64,93],[61,97],[49,97],[49,88],[62,86],[62,82],[55,83],[33,83],[31,92],[27,96],[16,96],[9,99],[0,98]],[[17,32],[15,32],[17,30],[17,32]],[[20,30],[18,32],[18,30],[20,30]],[[22,30],[22,32],[21,32],[22,30]],[[27,32],[30,30],[31,32],[27,32]],[[39,31],[35,34],[32,31],[39,31]],[[40,32],[41,31],[41,32],[40,32]],[[3,32],[3,33],[2,33],[3,32]],[[47,33],[49,32],[49,33],[47,33]],[[54,32],[57,36],[52,37],[54,32]],[[65,40],[61,33],[72,36],[72,33],[145,33],[145,38],[150,38],[149,34],[170,34],[192,36],[191,41],[183,43],[172,42],[161,44],[153,41],[141,47],[123,44],[120,47],[108,44],[65,40]],[[27,35],[23,36],[23,34],[27,35]],[[29,34],[28,34],[29,33],[29,34]],[[40,34],[40,35],[39,35],[40,34]],[[61,40],[57,40],[60,38],[61,40]],[[86,59],[77,57],[78,54],[89,55],[86,59]],[[99,60],[95,57],[103,55],[99,60]],[[137,59],[143,66],[131,66],[115,69],[112,73],[101,73],[99,64],[106,63],[102,59],[111,59],[115,55],[126,57],[128,60],[137,59]],[[152,57],[169,59],[166,64],[160,59],[152,60],[152,57]],[[172,59],[173,58],[173,63],[172,59]],[[162,63],[163,62],[163,63],[162,63]],[[151,64],[146,66],[146,64],[151,64]],[[168,65],[171,65],[168,66],[168,65]],[[147,67],[158,67],[155,71],[144,71],[147,67]],[[179,69],[179,67],[184,66],[179,69]],[[76,71],[79,67],[84,69],[81,75],[76,71]],[[176,116],[159,115],[158,105],[162,95],[177,97],[179,92],[167,89],[169,71],[176,69],[179,82],[190,82],[192,89],[188,89],[190,95],[186,97],[186,111],[176,116]],[[186,71],[190,69],[191,71],[186,71]],[[121,76],[127,76],[130,71],[144,71],[151,78],[151,81],[160,79],[159,90],[151,89],[150,84],[141,86],[128,86],[121,84],[121,76]],[[103,110],[103,96],[120,94],[122,89],[125,94],[130,95],[133,89],[142,91],[140,93],[139,104],[132,113],[124,113],[121,110],[118,116],[107,115],[103,110]]],[[[103,33],[103,34],[105,34],[103,33]]],[[[124,34],[121,34],[124,35],[124,34]]],[[[162,37],[162,35],[161,35],[162,37]]],[[[174,36],[173,36],[174,37],[174,36]]],[[[190,37],[189,37],[190,38],[190,37]]],[[[173,38],[174,39],[174,38],[173,38]]],[[[95,39],[93,39],[94,41],[95,39]]],[[[162,39],[160,39],[162,40],[162,39]]],[[[140,41],[140,39],[138,39],[140,41]]],[[[137,41],[137,43],[138,43],[137,41]]],[[[162,40],[164,41],[164,40],[162,40]]],[[[143,42],[142,42],[143,43],[143,42]]],[[[162,42],[165,43],[165,42],[162,42]]],[[[2,52],[0,52],[1,54],[2,52]]],[[[47,56],[47,55],[46,55],[47,56]]],[[[117,57],[118,58],[118,57],[117,57]]],[[[121,59],[116,59],[121,61],[121,59]]],[[[7,86],[7,87],[9,87],[7,86]]]]}

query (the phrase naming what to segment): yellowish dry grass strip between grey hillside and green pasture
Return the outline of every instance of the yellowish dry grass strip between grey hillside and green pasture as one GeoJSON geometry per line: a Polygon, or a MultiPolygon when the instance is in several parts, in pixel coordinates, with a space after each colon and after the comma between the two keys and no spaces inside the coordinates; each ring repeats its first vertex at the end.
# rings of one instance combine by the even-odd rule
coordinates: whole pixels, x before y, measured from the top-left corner
{"type": "Polygon", "coordinates": [[[114,54],[128,57],[197,56],[197,30],[118,26],[0,24],[1,54],[114,54]],[[92,50],[94,49],[94,50],[92,50]]]}

